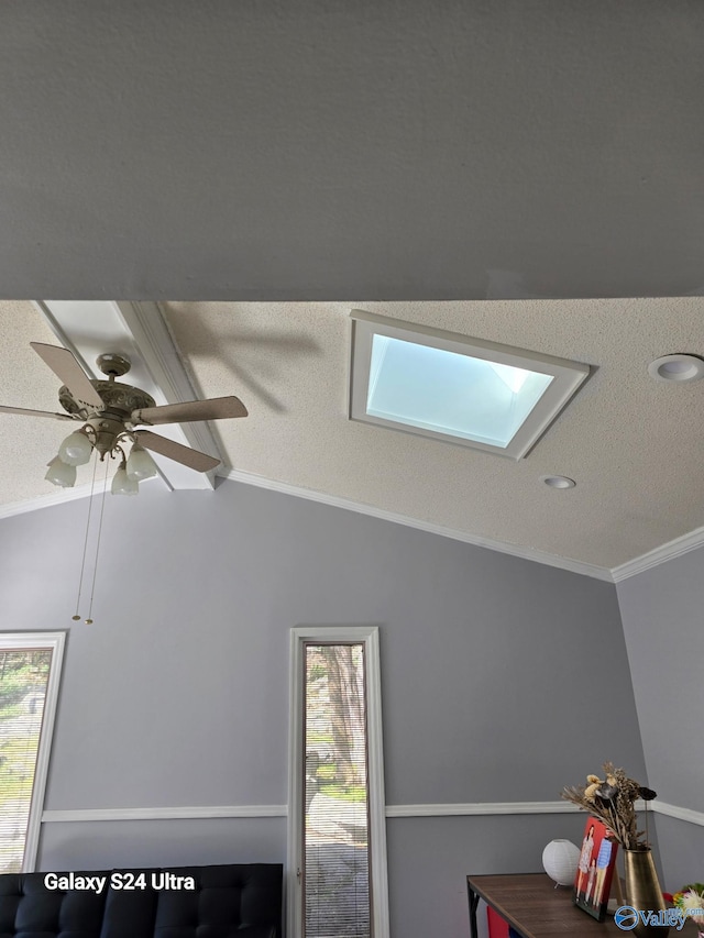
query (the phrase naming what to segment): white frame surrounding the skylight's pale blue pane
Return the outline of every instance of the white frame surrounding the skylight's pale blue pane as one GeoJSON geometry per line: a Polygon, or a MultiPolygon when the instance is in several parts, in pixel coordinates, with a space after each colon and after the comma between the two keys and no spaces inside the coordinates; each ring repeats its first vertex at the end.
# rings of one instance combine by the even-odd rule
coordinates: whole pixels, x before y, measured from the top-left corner
{"type": "Polygon", "coordinates": [[[591,373],[590,366],[582,362],[572,362],[553,355],[541,355],[513,345],[487,342],[482,339],[471,339],[466,335],[431,329],[427,325],[416,325],[410,322],[376,316],[364,310],[352,310],[350,318],[352,321],[348,408],[350,420],[400,430],[405,433],[441,440],[446,443],[468,446],[473,450],[496,453],[516,461],[524,459],[530,452],[591,373]],[[552,380],[506,446],[410,426],[373,416],[366,411],[374,335],[386,335],[404,342],[413,342],[473,358],[537,372],[549,375],[552,380]]]}

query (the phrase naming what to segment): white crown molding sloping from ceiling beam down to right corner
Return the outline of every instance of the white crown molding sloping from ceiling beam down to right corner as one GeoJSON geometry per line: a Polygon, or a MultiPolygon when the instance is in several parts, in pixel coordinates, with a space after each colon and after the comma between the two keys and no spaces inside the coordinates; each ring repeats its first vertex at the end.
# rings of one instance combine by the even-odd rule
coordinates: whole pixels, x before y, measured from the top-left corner
{"type": "Polygon", "coordinates": [[[293,495],[296,498],[307,498],[310,501],[319,501],[322,505],[330,505],[333,508],[344,508],[346,511],[356,511],[360,515],[369,515],[372,518],[380,518],[382,521],[392,521],[395,525],[405,525],[408,528],[417,528],[420,531],[428,531],[430,534],[439,534],[441,538],[463,541],[466,544],[473,544],[477,548],[486,548],[487,550],[510,554],[512,556],[518,556],[522,560],[542,563],[547,566],[557,566],[560,567],[560,570],[568,570],[571,573],[592,576],[595,580],[605,580],[608,583],[613,582],[610,571],[603,566],[582,563],[576,560],[571,560],[570,558],[538,551],[534,548],[508,544],[503,541],[494,541],[491,538],[483,538],[479,534],[471,534],[466,531],[458,531],[454,528],[444,528],[441,525],[432,525],[429,521],[421,521],[418,518],[409,518],[407,515],[386,511],[384,508],[363,505],[359,501],[353,501],[350,498],[341,498],[338,495],[328,495],[323,492],[314,492],[311,488],[302,488],[301,486],[290,485],[287,482],[277,482],[276,479],[265,478],[262,475],[243,472],[242,470],[220,470],[217,474],[221,478],[228,478],[231,482],[241,482],[244,485],[254,485],[257,488],[267,488],[271,492],[280,492],[283,495],[293,495]]]}

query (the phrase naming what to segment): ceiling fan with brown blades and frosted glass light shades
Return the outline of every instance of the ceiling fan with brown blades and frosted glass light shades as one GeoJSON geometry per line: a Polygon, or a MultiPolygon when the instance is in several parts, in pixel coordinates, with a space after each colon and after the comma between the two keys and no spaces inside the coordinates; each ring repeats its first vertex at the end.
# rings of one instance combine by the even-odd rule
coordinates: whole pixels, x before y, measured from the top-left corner
{"type": "Polygon", "coordinates": [[[64,382],[58,391],[58,402],[66,413],[2,406],[0,412],[81,422],[82,426],[64,440],[58,455],[48,464],[46,478],[55,485],[73,486],[76,466],[89,462],[94,450],[101,461],[106,455],[121,459],[112,482],[116,495],[136,495],[138,483],[157,474],[156,464],[145,450],[168,456],[196,472],[209,472],[219,465],[220,460],[136,427],[248,416],[242,401],[232,396],[157,406],[145,390],[116,380],[130,371],[130,361],[123,355],[98,356],[96,363],[107,375],[107,380],[102,380],[89,378],[67,349],[42,342],[31,342],[30,345],[64,382]],[[132,449],[128,456],[123,448],[129,443],[132,449]]]}

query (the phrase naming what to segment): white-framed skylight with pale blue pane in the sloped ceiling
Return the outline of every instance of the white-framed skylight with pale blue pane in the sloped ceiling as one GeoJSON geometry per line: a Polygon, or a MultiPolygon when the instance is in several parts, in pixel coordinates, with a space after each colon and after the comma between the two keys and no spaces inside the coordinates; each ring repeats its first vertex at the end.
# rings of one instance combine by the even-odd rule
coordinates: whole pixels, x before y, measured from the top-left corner
{"type": "Polygon", "coordinates": [[[588,375],[579,362],[352,318],[352,420],[520,459],[588,375]]]}

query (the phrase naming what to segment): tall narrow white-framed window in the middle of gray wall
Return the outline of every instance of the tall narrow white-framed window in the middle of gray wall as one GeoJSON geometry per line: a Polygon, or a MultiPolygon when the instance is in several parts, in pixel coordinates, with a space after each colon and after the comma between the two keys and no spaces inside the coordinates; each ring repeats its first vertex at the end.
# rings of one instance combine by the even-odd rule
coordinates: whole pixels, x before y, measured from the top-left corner
{"type": "Polygon", "coordinates": [[[289,938],[388,938],[378,630],[292,631],[289,938]]]}

